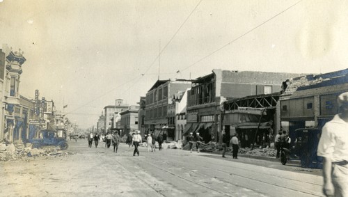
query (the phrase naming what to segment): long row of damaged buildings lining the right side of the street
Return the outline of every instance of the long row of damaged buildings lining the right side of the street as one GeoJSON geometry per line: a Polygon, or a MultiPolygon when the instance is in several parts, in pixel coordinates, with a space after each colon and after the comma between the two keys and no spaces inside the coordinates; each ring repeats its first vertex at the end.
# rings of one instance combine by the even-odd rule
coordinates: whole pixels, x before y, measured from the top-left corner
{"type": "Polygon", "coordinates": [[[222,132],[239,133],[242,146],[267,145],[275,132],[321,128],[338,113],[337,96],[348,90],[348,70],[292,74],[212,70],[197,79],[158,80],[139,106],[116,100],[104,108],[98,128],[127,134],[139,129],[185,139],[199,132],[203,141],[221,141],[222,132]]]}

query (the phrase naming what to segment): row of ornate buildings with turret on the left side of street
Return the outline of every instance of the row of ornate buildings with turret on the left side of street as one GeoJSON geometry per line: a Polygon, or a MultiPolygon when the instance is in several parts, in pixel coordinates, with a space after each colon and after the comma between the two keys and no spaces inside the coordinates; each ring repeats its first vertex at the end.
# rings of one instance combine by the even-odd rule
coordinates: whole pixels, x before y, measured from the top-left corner
{"type": "Polygon", "coordinates": [[[20,94],[23,54],[8,45],[0,49],[0,140],[10,143],[38,137],[40,129],[72,128],[68,118],[55,110],[53,100],[39,97],[39,90],[35,90],[35,99],[20,94]]]}

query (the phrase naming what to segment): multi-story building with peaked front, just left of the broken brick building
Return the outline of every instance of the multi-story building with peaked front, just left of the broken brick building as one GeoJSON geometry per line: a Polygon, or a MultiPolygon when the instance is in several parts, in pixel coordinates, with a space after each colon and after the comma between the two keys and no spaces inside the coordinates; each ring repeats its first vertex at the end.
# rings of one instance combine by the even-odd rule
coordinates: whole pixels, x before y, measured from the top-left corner
{"type": "Polygon", "coordinates": [[[165,133],[175,139],[175,113],[168,116],[168,106],[178,91],[184,92],[191,87],[191,80],[158,80],[146,93],[145,120],[146,132],[165,133]]]}

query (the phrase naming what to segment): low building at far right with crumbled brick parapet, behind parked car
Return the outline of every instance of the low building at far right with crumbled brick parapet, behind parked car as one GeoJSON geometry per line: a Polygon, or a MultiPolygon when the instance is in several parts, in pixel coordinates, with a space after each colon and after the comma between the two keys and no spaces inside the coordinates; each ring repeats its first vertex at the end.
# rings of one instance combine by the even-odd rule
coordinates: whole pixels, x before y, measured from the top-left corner
{"type": "Polygon", "coordinates": [[[339,112],[338,95],[347,91],[348,69],[290,80],[279,98],[282,129],[289,132],[292,139],[296,129],[322,129],[339,112]]]}

